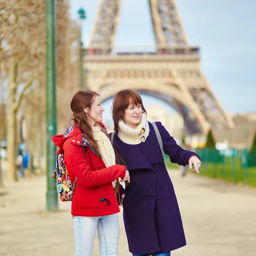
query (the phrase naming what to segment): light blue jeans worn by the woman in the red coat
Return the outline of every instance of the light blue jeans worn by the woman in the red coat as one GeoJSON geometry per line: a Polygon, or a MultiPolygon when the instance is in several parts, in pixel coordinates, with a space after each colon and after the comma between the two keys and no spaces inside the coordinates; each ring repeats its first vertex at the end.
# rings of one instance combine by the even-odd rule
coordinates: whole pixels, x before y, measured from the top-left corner
{"type": "Polygon", "coordinates": [[[119,241],[118,215],[102,217],[73,216],[76,241],[75,256],[91,256],[96,230],[100,256],[117,256],[119,241]]]}

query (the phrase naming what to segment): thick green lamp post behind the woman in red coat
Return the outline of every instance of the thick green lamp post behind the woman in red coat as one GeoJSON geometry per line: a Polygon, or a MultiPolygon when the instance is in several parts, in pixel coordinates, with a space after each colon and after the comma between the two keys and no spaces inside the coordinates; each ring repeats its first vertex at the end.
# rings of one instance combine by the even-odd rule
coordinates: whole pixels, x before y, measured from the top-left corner
{"type": "Polygon", "coordinates": [[[52,178],[56,160],[52,136],[57,133],[55,67],[55,0],[46,0],[47,211],[58,210],[56,181],[52,178]]]}

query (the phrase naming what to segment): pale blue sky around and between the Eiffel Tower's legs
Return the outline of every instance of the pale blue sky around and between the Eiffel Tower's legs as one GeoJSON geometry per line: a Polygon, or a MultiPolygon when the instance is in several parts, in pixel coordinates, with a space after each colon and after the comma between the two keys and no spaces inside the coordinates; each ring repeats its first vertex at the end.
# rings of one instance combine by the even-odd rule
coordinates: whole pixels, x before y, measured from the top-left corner
{"type": "MultiPolygon", "coordinates": [[[[201,47],[201,69],[224,109],[256,111],[256,1],[176,0],[176,5],[189,44],[201,47]]],[[[80,7],[86,10],[85,45],[98,6],[99,0],[71,0],[74,19],[80,7]]],[[[115,45],[153,46],[149,15],[147,0],[122,0],[115,45]]]]}

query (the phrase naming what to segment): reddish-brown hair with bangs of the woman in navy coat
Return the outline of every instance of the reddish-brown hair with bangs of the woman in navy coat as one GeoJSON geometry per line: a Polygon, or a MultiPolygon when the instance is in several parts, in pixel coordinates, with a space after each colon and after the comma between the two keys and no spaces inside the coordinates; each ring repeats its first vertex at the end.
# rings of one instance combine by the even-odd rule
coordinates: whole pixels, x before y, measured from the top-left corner
{"type": "Polygon", "coordinates": [[[115,135],[118,134],[119,128],[118,128],[118,123],[119,121],[123,120],[123,116],[125,114],[125,110],[130,106],[130,105],[141,105],[143,113],[147,113],[143,106],[142,99],[135,90],[131,89],[124,89],[116,93],[113,99],[112,103],[112,117],[114,121],[114,131],[115,135]]]}

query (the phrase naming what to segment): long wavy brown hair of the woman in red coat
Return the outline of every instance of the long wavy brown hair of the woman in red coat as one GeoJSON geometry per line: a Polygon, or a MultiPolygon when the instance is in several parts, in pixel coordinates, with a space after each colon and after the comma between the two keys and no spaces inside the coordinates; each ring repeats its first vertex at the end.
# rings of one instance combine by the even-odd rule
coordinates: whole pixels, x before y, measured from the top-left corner
{"type": "Polygon", "coordinates": [[[93,139],[93,129],[88,121],[90,115],[84,112],[84,108],[88,108],[88,110],[92,108],[96,96],[99,96],[99,94],[94,91],[77,91],[70,103],[70,108],[73,112],[73,118],[70,122],[73,121],[73,125],[81,130],[86,140],[100,155],[99,146],[93,139]]]}

